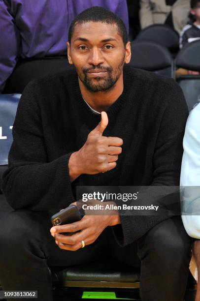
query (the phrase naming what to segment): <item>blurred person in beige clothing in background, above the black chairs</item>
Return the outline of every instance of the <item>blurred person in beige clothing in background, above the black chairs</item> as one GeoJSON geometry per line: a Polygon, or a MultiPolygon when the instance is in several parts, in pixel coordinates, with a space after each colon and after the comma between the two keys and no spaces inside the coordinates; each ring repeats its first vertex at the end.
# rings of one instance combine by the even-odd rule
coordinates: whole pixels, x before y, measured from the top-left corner
{"type": "Polygon", "coordinates": [[[181,32],[188,23],[190,0],[140,0],[141,29],[153,24],[167,24],[181,32]]]}

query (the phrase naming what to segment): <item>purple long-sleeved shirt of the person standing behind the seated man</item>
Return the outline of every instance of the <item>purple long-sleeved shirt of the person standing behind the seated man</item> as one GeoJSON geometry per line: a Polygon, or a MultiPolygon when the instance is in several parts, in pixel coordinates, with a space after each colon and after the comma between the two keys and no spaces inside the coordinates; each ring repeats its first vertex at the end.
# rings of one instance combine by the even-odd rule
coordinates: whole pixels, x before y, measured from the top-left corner
{"type": "Polygon", "coordinates": [[[113,11],[129,29],[126,0],[0,0],[0,93],[18,57],[67,55],[68,28],[91,6],[113,11]]]}

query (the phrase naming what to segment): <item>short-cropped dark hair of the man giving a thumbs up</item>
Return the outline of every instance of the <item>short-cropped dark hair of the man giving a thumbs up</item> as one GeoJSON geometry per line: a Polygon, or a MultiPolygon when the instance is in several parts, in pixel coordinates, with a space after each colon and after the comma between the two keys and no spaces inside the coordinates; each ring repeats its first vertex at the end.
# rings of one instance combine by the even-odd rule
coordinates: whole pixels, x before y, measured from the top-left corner
{"type": "Polygon", "coordinates": [[[75,17],[75,19],[71,22],[68,31],[69,43],[71,42],[71,37],[75,26],[77,24],[83,24],[87,22],[102,22],[107,24],[116,24],[119,30],[119,34],[122,37],[124,46],[126,46],[126,43],[128,41],[128,34],[124,22],[116,14],[100,6],[90,7],[82,11],[78,16],[75,17]]]}

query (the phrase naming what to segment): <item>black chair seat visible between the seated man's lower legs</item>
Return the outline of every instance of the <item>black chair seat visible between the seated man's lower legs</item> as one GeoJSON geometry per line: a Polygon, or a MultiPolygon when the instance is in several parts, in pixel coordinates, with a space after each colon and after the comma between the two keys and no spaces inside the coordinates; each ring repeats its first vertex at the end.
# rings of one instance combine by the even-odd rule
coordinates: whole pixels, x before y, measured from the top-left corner
{"type": "Polygon", "coordinates": [[[117,297],[140,301],[139,268],[105,260],[75,267],[50,267],[50,269],[55,301],[61,294],[63,298],[104,296],[104,300],[117,297]]]}

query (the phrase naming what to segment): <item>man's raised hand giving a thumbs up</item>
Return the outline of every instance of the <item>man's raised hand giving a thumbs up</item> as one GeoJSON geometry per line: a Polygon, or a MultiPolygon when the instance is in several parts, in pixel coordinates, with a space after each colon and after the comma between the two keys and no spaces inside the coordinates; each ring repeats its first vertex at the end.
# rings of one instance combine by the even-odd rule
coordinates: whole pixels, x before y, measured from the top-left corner
{"type": "Polygon", "coordinates": [[[108,125],[108,117],[101,112],[100,123],[88,134],[84,146],[69,158],[71,181],[81,174],[95,175],[105,173],[116,167],[118,155],[122,152],[123,140],[118,137],[102,136],[108,125]]]}

